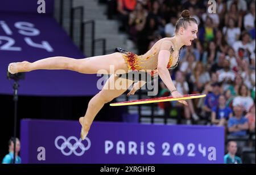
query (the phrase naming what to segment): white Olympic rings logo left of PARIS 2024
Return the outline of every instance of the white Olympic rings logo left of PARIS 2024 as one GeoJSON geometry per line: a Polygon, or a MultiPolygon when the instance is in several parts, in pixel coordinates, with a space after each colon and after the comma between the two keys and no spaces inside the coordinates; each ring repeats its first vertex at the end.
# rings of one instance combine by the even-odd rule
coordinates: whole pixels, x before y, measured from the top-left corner
{"type": "Polygon", "coordinates": [[[55,139],[55,147],[58,150],[61,150],[61,152],[63,153],[63,155],[65,156],[70,156],[72,153],[74,153],[76,156],[82,156],[84,154],[85,151],[89,150],[90,148],[90,139],[89,138],[85,138],[85,140],[87,141],[87,146],[85,147],[84,144],[82,143],[81,138],[77,139],[75,136],[69,136],[68,139],[66,139],[64,136],[59,135],[56,137],[55,139]],[[59,146],[58,141],[59,140],[63,140],[63,143],[61,143],[61,145],[59,146]],[[75,143],[72,144],[70,141],[71,140],[75,140],[75,143]],[[64,151],[65,148],[68,148],[69,151],[64,151]],[[82,150],[81,152],[77,152],[77,148],[80,148],[80,150],[82,150]]]}

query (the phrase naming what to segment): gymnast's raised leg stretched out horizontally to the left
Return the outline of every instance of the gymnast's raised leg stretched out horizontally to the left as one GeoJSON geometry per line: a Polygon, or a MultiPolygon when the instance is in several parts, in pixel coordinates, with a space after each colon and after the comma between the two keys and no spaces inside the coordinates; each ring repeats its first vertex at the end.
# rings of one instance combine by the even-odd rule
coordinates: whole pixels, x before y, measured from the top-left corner
{"type": "Polygon", "coordinates": [[[40,59],[35,62],[10,63],[8,71],[11,74],[18,72],[28,72],[32,70],[72,70],[83,74],[97,74],[98,70],[110,72],[110,65],[114,70],[122,69],[127,71],[127,64],[121,53],[112,53],[104,56],[89,57],[84,59],[74,59],[68,57],[50,57],[40,59]]]}

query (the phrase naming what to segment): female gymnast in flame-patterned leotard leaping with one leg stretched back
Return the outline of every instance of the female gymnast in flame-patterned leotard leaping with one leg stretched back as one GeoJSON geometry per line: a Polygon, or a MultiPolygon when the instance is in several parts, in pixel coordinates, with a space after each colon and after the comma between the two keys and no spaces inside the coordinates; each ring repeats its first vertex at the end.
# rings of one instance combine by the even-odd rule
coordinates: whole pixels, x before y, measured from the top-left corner
{"type": "MultiPolygon", "coordinates": [[[[8,71],[11,74],[15,74],[17,72],[28,72],[39,69],[63,69],[81,72],[82,74],[97,74],[99,70],[106,70],[108,74],[110,74],[110,66],[114,66],[114,70],[124,70],[126,73],[129,70],[151,70],[158,73],[173,97],[182,97],[182,95],[177,92],[174,83],[172,83],[169,69],[175,69],[175,67],[177,67],[181,47],[183,45],[191,45],[192,41],[197,38],[196,33],[198,28],[196,20],[191,18],[188,10],[181,12],[181,18],[177,20],[175,27],[174,37],[160,39],[142,56],[137,56],[136,54],[117,48],[117,52],[115,53],[85,59],[50,57],[32,63],[27,61],[10,63],[8,71]]],[[[154,75],[150,74],[150,76],[154,75]]],[[[118,79],[120,80],[120,78],[121,75],[111,75],[101,91],[89,101],[85,116],[79,118],[82,140],[85,139],[94,117],[96,117],[96,114],[103,105],[112,101],[115,97],[118,97],[127,90],[127,88],[108,88],[110,83],[118,79]]],[[[124,79],[122,78],[122,80],[124,79]]],[[[134,83],[134,78],[126,78],[125,82],[126,84],[124,83],[122,86],[130,87],[134,83]]],[[[127,95],[133,95],[137,89],[141,88],[146,83],[146,80],[139,79],[137,83],[134,83],[133,88],[127,95]]],[[[184,100],[179,100],[179,103],[187,105],[184,100]]]]}

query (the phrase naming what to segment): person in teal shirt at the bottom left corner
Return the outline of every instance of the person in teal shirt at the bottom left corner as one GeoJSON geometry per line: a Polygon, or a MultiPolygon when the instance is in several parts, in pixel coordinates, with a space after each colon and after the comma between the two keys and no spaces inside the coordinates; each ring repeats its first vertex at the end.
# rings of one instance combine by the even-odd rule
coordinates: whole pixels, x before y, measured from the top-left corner
{"type": "MultiPolygon", "coordinates": [[[[12,164],[13,163],[13,159],[14,159],[14,141],[15,138],[11,138],[9,140],[9,154],[7,154],[2,161],[2,164],[12,164]]],[[[21,158],[18,156],[19,151],[20,151],[20,142],[19,139],[16,138],[16,155],[15,155],[15,164],[20,164],[21,163],[21,158]]]]}

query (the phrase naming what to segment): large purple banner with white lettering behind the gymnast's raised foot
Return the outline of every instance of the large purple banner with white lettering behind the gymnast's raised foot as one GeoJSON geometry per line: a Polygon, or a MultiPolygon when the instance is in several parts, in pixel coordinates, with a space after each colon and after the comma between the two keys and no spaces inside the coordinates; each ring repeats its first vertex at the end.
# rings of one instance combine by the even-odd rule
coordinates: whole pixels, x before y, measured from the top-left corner
{"type": "MultiPolygon", "coordinates": [[[[53,56],[84,58],[55,19],[40,14],[0,12],[0,93],[13,94],[6,78],[9,63],[53,56]]],[[[19,94],[91,96],[99,91],[97,80],[96,75],[68,70],[36,70],[27,72],[26,80],[20,81],[19,94]]]]}

